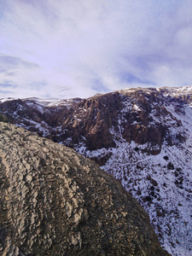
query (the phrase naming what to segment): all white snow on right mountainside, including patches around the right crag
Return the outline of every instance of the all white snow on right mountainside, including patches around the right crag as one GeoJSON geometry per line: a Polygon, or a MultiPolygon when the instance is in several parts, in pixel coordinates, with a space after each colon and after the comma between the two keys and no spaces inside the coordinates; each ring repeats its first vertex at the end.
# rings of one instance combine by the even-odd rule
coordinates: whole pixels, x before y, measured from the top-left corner
{"type": "MultiPolygon", "coordinates": [[[[127,92],[127,90],[124,90],[127,92]]],[[[172,89],[164,96],[188,95],[192,87],[172,89]],[[181,92],[181,93],[180,93],[181,92]]],[[[122,113],[140,111],[137,104],[131,107],[126,101],[122,113]]],[[[154,104],[155,105],[155,104],[154,104]]],[[[153,108],[149,116],[154,122],[166,123],[173,137],[183,135],[186,141],[169,145],[166,141],[161,145],[160,153],[148,154],[150,143],[127,143],[122,136],[122,129],[111,129],[115,148],[86,150],[77,146],[79,153],[92,159],[100,159],[110,155],[102,166],[106,172],[119,179],[125,189],[137,198],[148,212],[151,223],[160,238],[161,244],[172,255],[192,255],[192,108],[183,104],[178,108],[177,102],[166,102],[166,116],[153,108]],[[177,122],[181,125],[177,126],[177,122]]],[[[134,121],[135,124],[137,121],[134,121]]]]}

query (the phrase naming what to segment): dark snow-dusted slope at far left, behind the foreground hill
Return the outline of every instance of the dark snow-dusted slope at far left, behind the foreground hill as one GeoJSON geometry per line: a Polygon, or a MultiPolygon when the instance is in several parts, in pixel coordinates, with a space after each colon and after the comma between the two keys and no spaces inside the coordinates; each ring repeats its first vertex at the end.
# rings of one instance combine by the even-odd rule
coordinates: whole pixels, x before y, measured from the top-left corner
{"type": "MultiPolygon", "coordinates": [[[[9,120],[10,123],[20,125],[29,131],[35,131],[39,136],[49,137],[54,140],[55,127],[58,125],[60,114],[68,115],[68,102],[63,101],[60,106],[52,106],[51,102],[37,102],[36,98],[20,99],[1,99],[0,113],[2,119],[9,120]],[[66,103],[66,104],[65,104],[66,103]]],[[[59,129],[59,128],[58,128],[59,129]]]]}

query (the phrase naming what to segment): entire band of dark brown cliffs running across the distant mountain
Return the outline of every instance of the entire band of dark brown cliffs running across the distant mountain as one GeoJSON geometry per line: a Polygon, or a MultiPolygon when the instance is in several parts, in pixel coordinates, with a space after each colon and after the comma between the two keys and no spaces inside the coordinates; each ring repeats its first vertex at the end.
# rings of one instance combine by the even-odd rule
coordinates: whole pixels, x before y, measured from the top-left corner
{"type": "MultiPolygon", "coordinates": [[[[56,106],[34,99],[5,101],[0,103],[0,113],[13,124],[71,148],[79,144],[88,150],[114,148],[113,130],[128,143],[149,143],[149,153],[158,154],[165,139],[170,144],[175,141],[170,136],[171,123],[181,125],[166,105],[176,102],[181,106],[191,100],[190,96],[171,95],[172,91],[165,96],[167,91],[119,90],[88,99],[63,100],[56,106]]],[[[177,143],[181,140],[183,136],[177,137],[177,143]]]]}

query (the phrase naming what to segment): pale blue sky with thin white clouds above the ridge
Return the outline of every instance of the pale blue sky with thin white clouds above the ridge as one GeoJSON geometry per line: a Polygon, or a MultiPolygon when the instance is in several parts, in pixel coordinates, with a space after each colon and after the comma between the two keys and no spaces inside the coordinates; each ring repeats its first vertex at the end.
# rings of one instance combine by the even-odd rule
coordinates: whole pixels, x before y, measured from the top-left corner
{"type": "Polygon", "coordinates": [[[191,84],[191,0],[0,0],[0,98],[191,84]]]}

